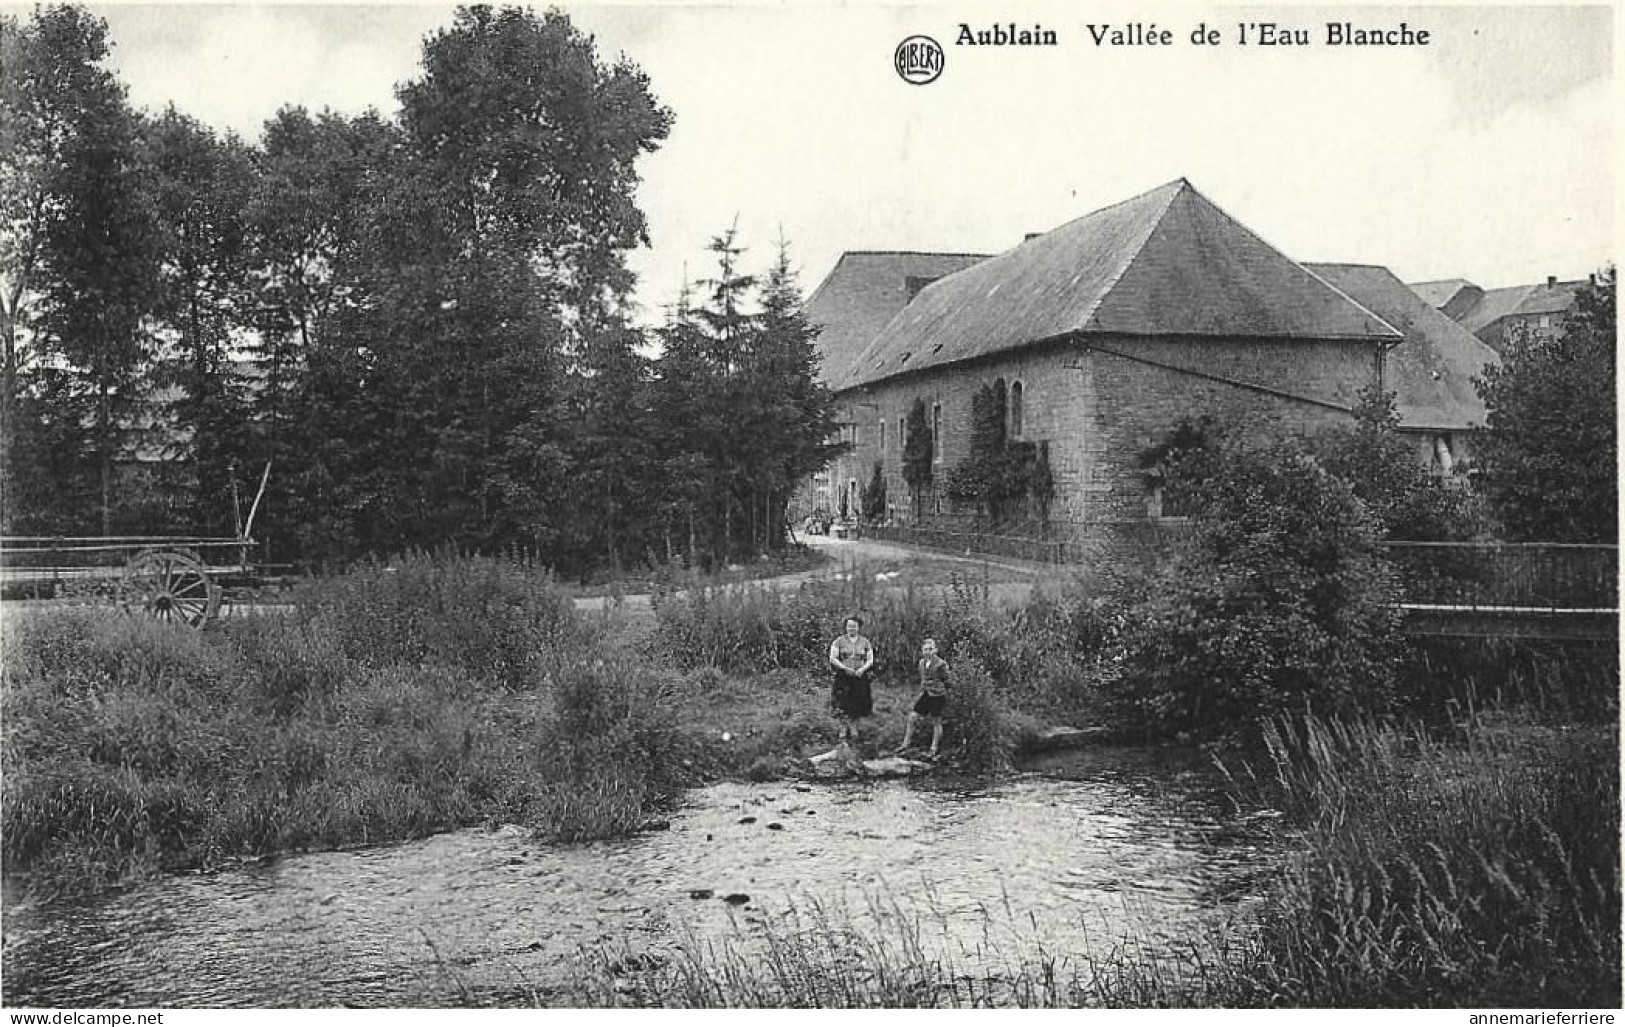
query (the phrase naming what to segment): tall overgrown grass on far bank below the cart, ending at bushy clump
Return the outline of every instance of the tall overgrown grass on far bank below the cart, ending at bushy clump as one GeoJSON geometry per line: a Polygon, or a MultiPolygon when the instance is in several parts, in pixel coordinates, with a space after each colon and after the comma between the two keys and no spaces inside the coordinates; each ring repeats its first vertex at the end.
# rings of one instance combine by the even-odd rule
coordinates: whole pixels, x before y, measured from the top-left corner
{"type": "Polygon", "coordinates": [[[296,616],[203,634],[29,611],[0,668],[0,853],[52,890],[497,821],[634,829],[686,780],[673,676],[603,648],[488,561],[314,582],[296,616]]]}

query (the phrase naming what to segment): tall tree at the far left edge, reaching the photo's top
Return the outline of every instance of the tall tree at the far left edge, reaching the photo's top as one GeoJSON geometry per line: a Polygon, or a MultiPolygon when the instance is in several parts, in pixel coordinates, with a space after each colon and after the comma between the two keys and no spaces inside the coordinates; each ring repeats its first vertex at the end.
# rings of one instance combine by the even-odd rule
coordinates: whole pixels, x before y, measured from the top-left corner
{"type": "MultiPolygon", "coordinates": [[[[70,370],[54,374],[47,392],[88,405],[93,429],[84,444],[99,479],[94,505],[109,533],[114,463],[148,356],[141,315],[156,265],[154,221],[136,161],[140,120],[102,67],[106,58],[106,23],[80,8],[41,8],[26,28],[0,23],[0,416],[15,434],[24,346],[36,366],[70,370]]],[[[63,413],[54,418],[63,429],[58,440],[75,434],[63,413]]],[[[15,492],[80,491],[58,478],[80,460],[44,465],[21,457],[21,447],[8,452],[8,478],[31,474],[55,486],[32,483],[15,492]]]]}

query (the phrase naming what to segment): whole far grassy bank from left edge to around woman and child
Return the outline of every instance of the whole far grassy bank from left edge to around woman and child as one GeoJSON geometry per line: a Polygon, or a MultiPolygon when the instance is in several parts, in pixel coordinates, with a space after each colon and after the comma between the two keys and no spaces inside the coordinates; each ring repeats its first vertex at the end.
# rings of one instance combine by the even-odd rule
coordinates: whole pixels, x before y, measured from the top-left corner
{"type": "MultiPolygon", "coordinates": [[[[577,613],[541,570],[465,557],[314,580],[289,596],[292,614],[202,634],[96,608],[10,616],[6,873],[93,890],[476,824],[566,842],[634,832],[686,785],[780,777],[835,743],[824,647],[832,609],[856,590],[873,600],[864,582],[666,595],[642,640],[613,613],[577,613]],[[801,611],[804,639],[752,639],[726,671],[679,634],[743,637],[722,624],[769,608],[801,611]]],[[[968,593],[887,603],[881,621],[986,634],[968,593]]],[[[871,752],[900,741],[915,694],[905,635],[882,644],[871,752]]],[[[973,661],[964,671],[956,760],[996,770],[1032,722],[973,661]]]]}

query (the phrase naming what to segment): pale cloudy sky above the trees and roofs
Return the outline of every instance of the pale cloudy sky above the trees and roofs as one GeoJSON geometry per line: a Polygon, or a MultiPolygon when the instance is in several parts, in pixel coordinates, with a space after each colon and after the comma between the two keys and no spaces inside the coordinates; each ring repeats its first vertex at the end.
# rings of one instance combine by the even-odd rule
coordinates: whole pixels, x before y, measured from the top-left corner
{"type": "MultiPolygon", "coordinates": [[[[135,104],[174,102],[257,138],[284,104],[392,114],[450,5],[88,5],[135,104]]],[[[1618,26],[1602,6],[1081,6],[821,0],[561,3],[674,112],[642,162],[650,247],[630,255],[660,320],[707,242],[748,263],[788,240],[812,288],[843,250],[996,254],[1178,177],[1298,262],[1484,288],[1583,278],[1614,255],[1618,26]],[[1238,46],[1240,23],[1310,47],[1238,46]],[[1427,29],[1427,47],[1323,42],[1328,21],[1427,29]],[[956,46],[959,26],[1055,29],[1055,47],[956,46]],[[1087,24],[1154,23],[1160,47],[1087,24]],[[1193,46],[1199,24],[1219,46],[1193,46]],[[902,81],[899,41],[946,50],[902,81]]]]}

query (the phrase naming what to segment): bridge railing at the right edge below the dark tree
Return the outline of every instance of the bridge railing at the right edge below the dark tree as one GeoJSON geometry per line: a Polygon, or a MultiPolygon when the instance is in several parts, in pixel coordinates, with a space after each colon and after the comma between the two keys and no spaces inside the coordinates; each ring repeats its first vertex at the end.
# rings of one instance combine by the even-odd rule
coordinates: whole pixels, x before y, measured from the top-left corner
{"type": "Polygon", "coordinates": [[[1414,604],[1618,609],[1618,546],[1386,543],[1414,604]]]}

